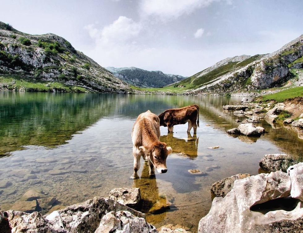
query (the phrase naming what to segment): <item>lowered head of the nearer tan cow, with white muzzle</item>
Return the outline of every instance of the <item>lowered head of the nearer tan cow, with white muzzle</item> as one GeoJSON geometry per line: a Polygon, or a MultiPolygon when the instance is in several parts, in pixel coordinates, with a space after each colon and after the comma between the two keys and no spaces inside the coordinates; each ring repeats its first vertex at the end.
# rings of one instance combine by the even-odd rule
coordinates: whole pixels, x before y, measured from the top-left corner
{"type": "Polygon", "coordinates": [[[167,172],[166,158],[173,151],[170,146],[166,146],[164,142],[158,142],[151,148],[140,146],[139,149],[143,151],[146,156],[149,156],[152,164],[159,173],[167,172]]]}

